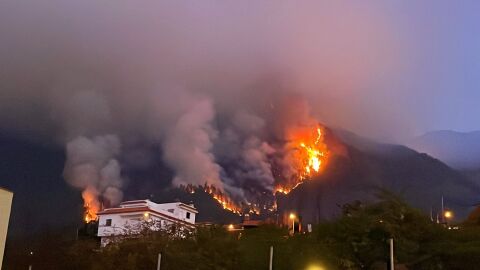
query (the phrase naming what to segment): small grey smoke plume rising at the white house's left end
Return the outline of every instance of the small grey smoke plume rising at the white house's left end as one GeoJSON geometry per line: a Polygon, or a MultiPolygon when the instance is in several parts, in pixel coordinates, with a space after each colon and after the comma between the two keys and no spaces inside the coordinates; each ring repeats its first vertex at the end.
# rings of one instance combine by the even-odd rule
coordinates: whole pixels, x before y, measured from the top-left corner
{"type": "Polygon", "coordinates": [[[97,209],[99,196],[111,205],[122,200],[123,179],[116,159],[120,147],[115,135],[77,137],[67,143],[64,177],[74,187],[83,189],[85,203],[97,209]]]}

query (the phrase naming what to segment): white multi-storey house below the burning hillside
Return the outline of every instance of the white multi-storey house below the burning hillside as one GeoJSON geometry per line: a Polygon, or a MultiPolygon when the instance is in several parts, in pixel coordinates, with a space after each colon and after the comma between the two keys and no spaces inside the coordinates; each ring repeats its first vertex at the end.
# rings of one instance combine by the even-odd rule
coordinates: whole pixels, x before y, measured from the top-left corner
{"type": "Polygon", "coordinates": [[[101,246],[121,235],[135,235],[144,224],[151,229],[166,229],[172,225],[195,228],[197,209],[181,202],[157,204],[150,200],[122,202],[117,208],[107,208],[98,215],[98,233],[101,246]]]}

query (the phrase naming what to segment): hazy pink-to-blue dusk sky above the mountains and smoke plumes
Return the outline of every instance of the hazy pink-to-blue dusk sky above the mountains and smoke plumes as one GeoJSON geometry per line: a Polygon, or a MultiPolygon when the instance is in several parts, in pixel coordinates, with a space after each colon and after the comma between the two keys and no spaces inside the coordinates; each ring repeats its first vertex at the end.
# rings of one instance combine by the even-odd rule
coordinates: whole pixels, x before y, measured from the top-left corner
{"type": "Polygon", "coordinates": [[[73,93],[104,96],[128,129],[171,89],[221,111],[273,76],[377,139],[480,129],[478,1],[318,2],[2,1],[0,124],[65,141],[73,93]]]}

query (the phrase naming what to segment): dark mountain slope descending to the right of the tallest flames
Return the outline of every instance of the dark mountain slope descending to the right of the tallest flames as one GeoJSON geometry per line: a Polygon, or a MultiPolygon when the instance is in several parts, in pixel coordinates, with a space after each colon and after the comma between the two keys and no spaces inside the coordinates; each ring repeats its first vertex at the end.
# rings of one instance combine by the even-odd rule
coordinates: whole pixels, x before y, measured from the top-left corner
{"type": "MultiPolygon", "coordinates": [[[[413,206],[438,212],[441,198],[458,219],[480,200],[480,187],[441,161],[401,145],[380,144],[350,132],[335,131],[346,154],[332,157],[325,172],[283,198],[286,211],[298,209],[305,222],[340,213],[354,200],[374,200],[379,189],[393,191],[413,206]]],[[[294,210],[295,211],[295,210],[294,210]]]]}

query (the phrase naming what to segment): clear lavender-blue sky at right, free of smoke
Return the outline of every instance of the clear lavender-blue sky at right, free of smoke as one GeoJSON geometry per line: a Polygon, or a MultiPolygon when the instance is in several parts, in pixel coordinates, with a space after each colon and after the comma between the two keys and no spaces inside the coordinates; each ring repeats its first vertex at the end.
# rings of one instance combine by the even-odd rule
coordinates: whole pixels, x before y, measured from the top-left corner
{"type": "Polygon", "coordinates": [[[395,91],[417,121],[415,132],[477,130],[480,3],[402,1],[389,10],[407,34],[411,64],[395,91]]]}

